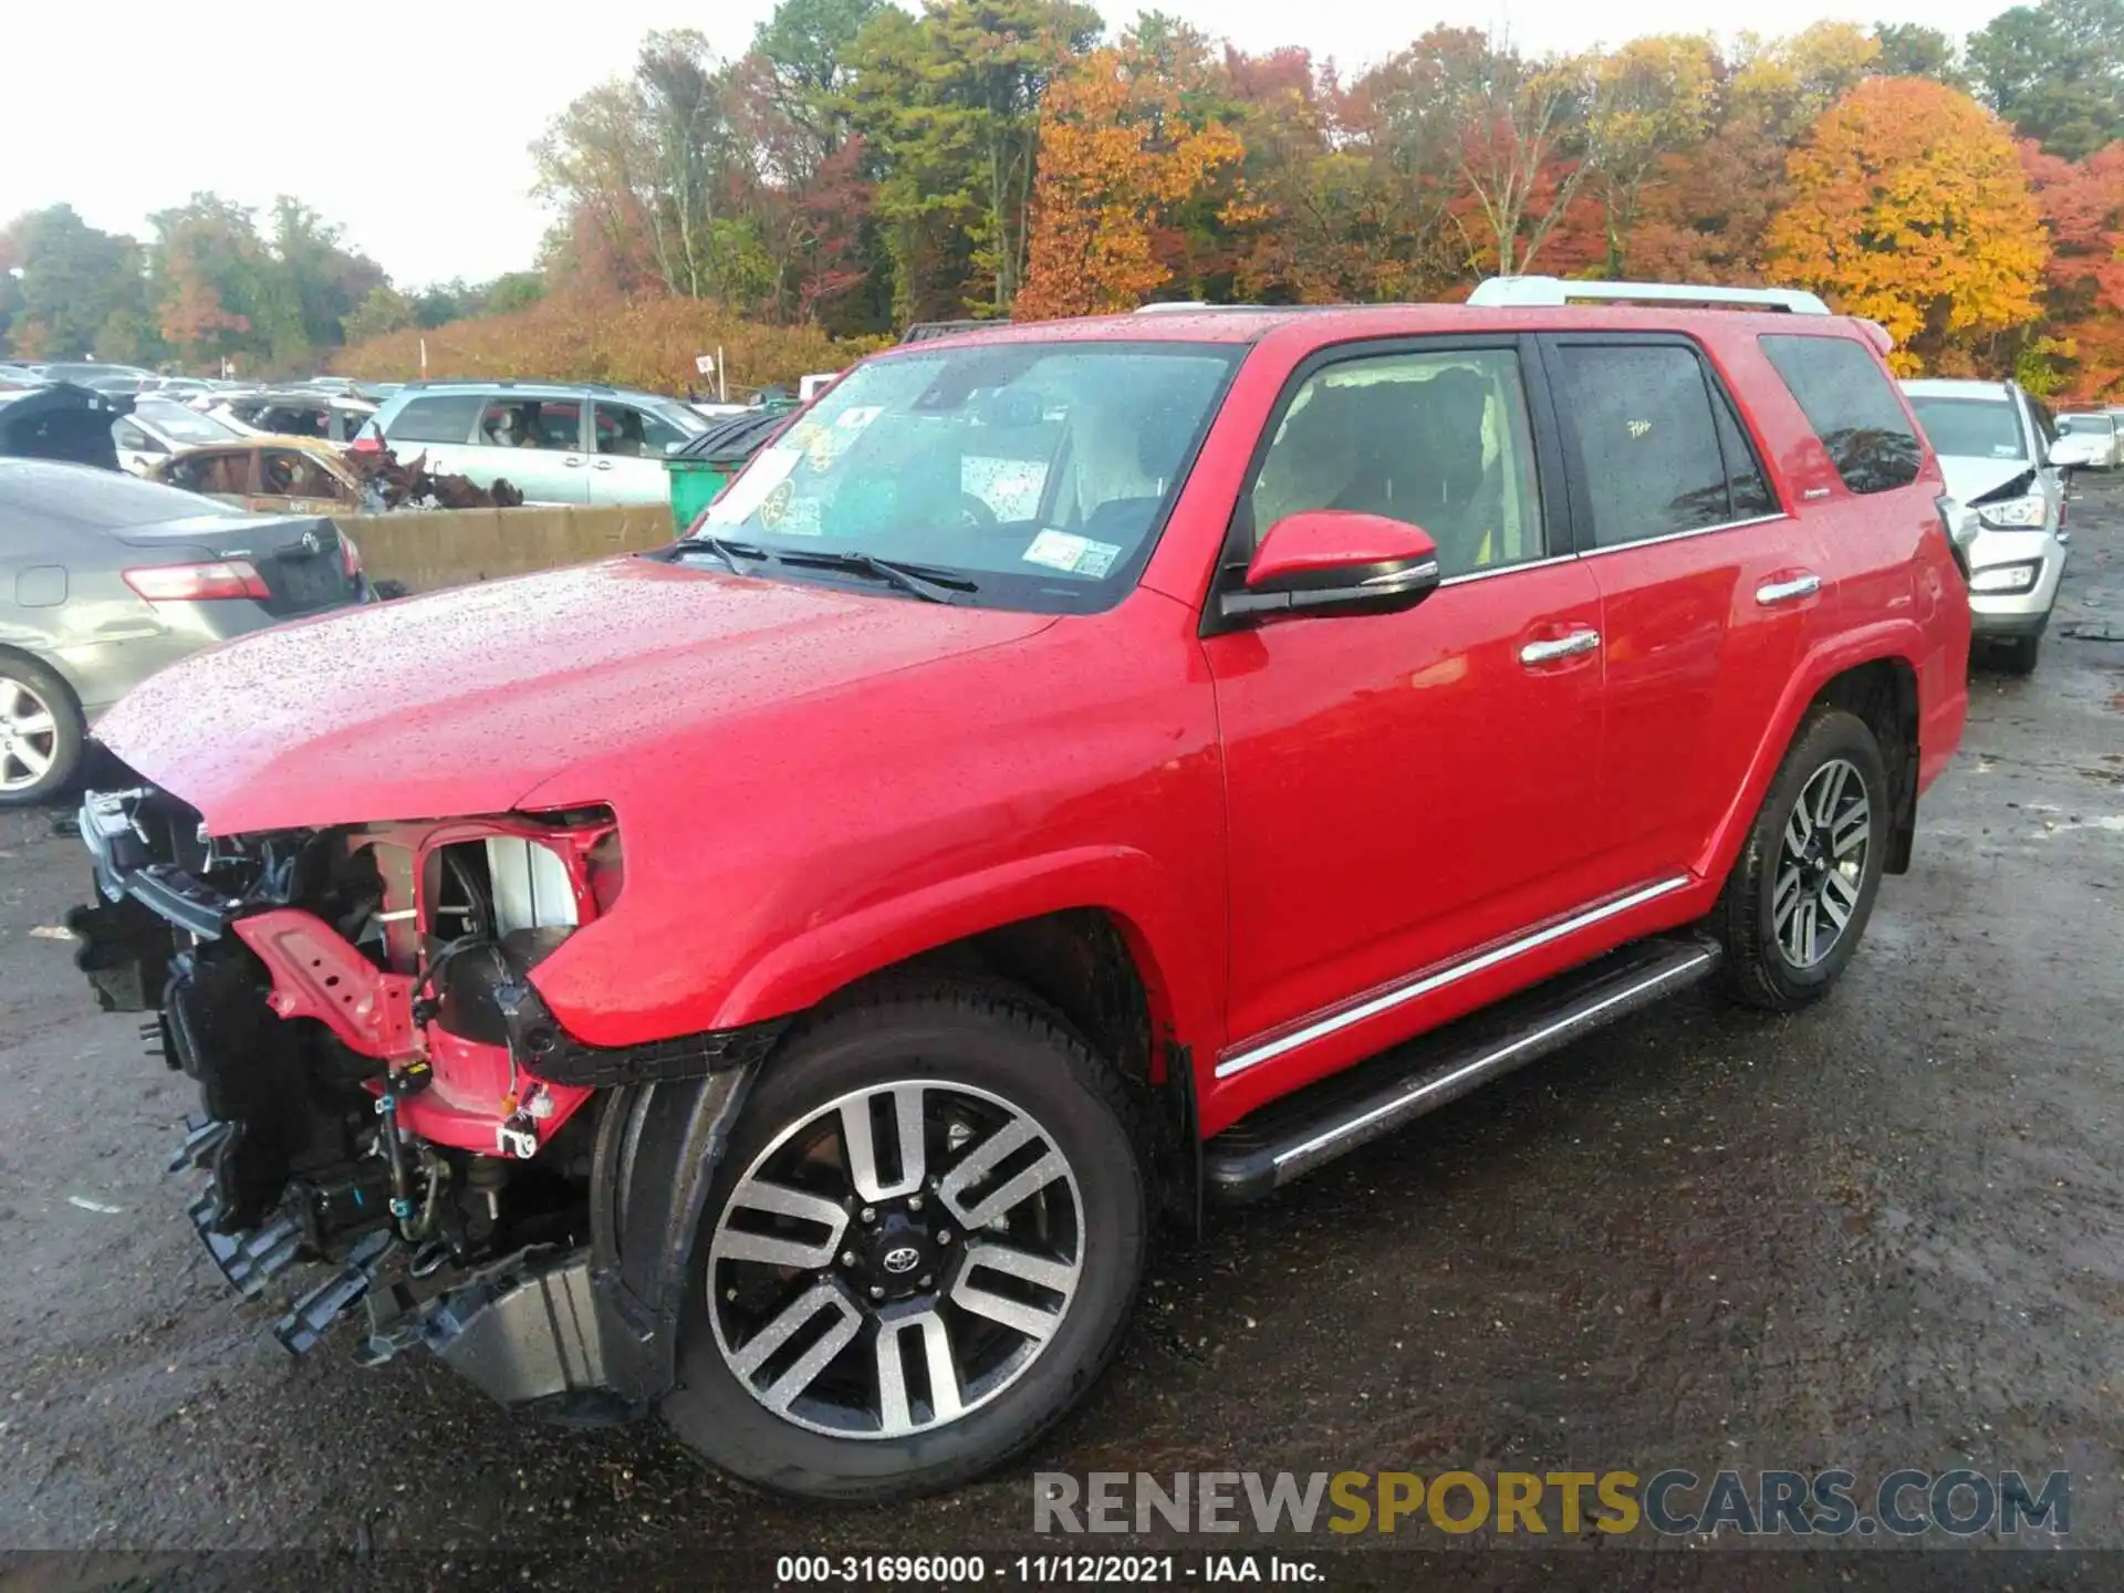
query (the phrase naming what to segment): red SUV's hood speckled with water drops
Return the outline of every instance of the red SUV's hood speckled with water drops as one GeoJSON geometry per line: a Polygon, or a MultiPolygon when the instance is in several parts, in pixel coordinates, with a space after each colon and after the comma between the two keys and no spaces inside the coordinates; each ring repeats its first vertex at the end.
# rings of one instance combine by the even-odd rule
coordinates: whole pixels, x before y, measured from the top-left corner
{"type": "Polygon", "coordinates": [[[215,835],[497,813],[582,758],[1051,622],[612,559],[261,631],[96,735],[215,835]]]}

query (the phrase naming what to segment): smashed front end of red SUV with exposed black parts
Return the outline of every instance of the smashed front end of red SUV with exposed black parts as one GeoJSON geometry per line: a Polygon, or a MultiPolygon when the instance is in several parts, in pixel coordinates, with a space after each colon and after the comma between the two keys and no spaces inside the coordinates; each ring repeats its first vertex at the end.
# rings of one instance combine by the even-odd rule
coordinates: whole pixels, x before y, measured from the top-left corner
{"type": "Polygon", "coordinates": [[[206,1172],[200,1236],[246,1296],[338,1268],[274,1325],[291,1353],[365,1304],[359,1359],[425,1344],[506,1404],[595,1419],[663,1391],[682,1257],[629,1294],[599,1211],[620,1158],[584,1107],[692,1081],[720,1124],[780,1026],[610,1049],[552,1015],[531,971],[622,890],[607,809],[210,837],[136,784],[79,822],[100,901],[76,960],[200,1085],[172,1162],[206,1172]]]}

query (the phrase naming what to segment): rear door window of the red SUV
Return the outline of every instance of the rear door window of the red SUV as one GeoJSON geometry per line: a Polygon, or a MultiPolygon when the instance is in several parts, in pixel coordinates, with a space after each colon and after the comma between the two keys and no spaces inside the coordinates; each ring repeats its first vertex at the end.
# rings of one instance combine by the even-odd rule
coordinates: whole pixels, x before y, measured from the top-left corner
{"type": "Polygon", "coordinates": [[[1593,546],[1776,512],[1740,421],[1693,348],[1561,344],[1557,370],[1593,546]]]}

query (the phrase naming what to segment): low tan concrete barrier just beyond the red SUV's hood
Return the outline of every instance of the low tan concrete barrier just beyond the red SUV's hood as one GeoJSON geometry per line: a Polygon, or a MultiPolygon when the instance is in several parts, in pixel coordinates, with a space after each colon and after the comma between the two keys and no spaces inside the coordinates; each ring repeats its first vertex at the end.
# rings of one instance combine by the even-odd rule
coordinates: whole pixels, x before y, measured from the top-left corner
{"type": "Polygon", "coordinates": [[[431,593],[495,576],[582,565],[671,542],[669,506],[401,510],[333,516],[361,548],[370,580],[431,593]]]}

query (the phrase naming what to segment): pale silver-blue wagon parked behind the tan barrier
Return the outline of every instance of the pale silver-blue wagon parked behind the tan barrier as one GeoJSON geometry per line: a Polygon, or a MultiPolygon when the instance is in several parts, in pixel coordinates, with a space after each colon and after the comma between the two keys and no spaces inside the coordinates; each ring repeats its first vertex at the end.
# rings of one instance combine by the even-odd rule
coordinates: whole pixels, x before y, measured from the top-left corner
{"type": "Polygon", "coordinates": [[[665,503],[663,461],[707,429],[658,393],[567,382],[408,382],[363,427],[399,459],[527,503],[665,503]]]}

